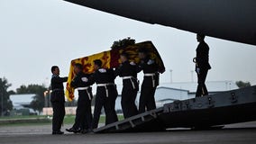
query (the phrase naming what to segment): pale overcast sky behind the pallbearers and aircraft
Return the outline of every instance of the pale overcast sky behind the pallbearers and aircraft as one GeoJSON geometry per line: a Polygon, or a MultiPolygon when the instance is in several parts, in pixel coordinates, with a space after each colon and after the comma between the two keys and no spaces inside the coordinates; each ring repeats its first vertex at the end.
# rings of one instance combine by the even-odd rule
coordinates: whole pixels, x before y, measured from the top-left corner
{"type": "MultiPolygon", "coordinates": [[[[235,30],[234,30],[235,31],[235,30]]],[[[70,60],[110,49],[114,40],[151,40],[166,72],[160,83],[197,81],[192,58],[196,34],[106,14],[61,0],[0,0],[0,77],[20,85],[50,83],[50,67],[68,76],[70,60]],[[169,70],[172,69],[172,75],[169,70]]],[[[256,46],[206,37],[206,81],[242,80],[256,85],[256,46]]],[[[119,78],[118,78],[119,79],[119,78]]],[[[117,83],[121,83],[117,80],[117,83]]]]}

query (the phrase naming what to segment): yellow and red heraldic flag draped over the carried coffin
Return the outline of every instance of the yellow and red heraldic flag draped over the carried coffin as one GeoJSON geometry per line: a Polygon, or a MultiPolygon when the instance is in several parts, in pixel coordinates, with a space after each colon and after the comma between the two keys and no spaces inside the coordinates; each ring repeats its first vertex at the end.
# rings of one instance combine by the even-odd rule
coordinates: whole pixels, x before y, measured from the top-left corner
{"type": "Polygon", "coordinates": [[[101,59],[103,62],[103,67],[105,68],[114,68],[118,67],[121,63],[120,61],[120,54],[125,51],[129,54],[131,61],[135,63],[139,63],[140,59],[138,58],[138,49],[147,49],[149,51],[150,57],[156,60],[156,63],[159,66],[159,72],[163,73],[165,71],[164,64],[162,59],[160,58],[160,54],[158,50],[154,47],[151,41],[144,41],[141,43],[136,43],[134,45],[127,46],[125,48],[120,49],[110,49],[108,51],[103,51],[91,56],[87,56],[84,58],[77,58],[71,60],[70,67],[69,67],[69,78],[66,85],[66,97],[69,101],[74,99],[74,91],[75,89],[71,87],[70,82],[74,78],[74,65],[76,63],[80,63],[83,65],[83,71],[87,74],[91,74],[94,72],[94,60],[101,59]]]}

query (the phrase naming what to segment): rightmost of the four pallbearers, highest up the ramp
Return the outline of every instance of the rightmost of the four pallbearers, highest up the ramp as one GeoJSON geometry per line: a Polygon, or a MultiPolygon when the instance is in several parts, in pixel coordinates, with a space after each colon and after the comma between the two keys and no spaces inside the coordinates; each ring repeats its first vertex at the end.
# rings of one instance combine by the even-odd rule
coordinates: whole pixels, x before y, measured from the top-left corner
{"type": "Polygon", "coordinates": [[[150,58],[147,49],[139,49],[139,58],[139,67],[144,73],[139,112],[145,112],[156,108],[154,94],[159,85],[159,72],[155,59],[150,58]]]}

